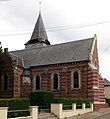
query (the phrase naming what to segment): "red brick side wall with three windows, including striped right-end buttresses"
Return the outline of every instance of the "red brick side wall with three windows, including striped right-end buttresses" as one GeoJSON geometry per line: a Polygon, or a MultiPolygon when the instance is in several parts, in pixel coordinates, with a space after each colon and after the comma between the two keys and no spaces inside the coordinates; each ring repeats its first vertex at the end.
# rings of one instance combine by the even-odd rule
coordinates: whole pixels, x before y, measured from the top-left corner
{"type": "Polygon", "coordinates": [[[54,93],[56,98],[88,98],[94,104],[94,109],[106,106],[104,96],[104,81],[99,71],[93,69],[88,62],[77,62],[65,65],[52,65],[43,67],[32,67],[32,86],[36,75],[41,77],[41,90],[48,90],[54,93]],[[74,71],[80,72],[80,89],[71,88],[71,75],[74,71]],[[52,74],[58,73],[60,77],[60,89],[52,90],[52,74]]]}

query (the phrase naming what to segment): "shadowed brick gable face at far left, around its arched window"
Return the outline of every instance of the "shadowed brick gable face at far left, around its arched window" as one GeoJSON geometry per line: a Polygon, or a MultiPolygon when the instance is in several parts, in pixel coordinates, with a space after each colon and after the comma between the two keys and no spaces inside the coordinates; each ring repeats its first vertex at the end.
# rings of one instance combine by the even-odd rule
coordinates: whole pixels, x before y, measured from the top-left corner
{"type": "Polygon", "coordinates": [[[14,90],[14,74],[13,74],[13,65],[10,55],[7,52],[4,52],[0,58],[0,79],[3,74],[8,76],[8,90],[2,90],[2,80],[0,80],[0,98],[13,97],[14,90]]]}

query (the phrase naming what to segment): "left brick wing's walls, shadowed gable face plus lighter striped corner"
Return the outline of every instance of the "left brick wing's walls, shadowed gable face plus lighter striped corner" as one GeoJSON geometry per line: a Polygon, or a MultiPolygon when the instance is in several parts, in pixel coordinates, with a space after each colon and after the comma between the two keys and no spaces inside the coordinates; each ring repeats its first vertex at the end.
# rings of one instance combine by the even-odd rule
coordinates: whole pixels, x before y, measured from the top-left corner
{"type": "Polygon", "coordinates": [[[21,74],[23,68],[15,67],[9,53],[5,51],[0,59],[0,79],[3,74],[8,76],[8,89],[2,90],[2,80],[0,80],[0,98],[20,97],[21,74]]]}

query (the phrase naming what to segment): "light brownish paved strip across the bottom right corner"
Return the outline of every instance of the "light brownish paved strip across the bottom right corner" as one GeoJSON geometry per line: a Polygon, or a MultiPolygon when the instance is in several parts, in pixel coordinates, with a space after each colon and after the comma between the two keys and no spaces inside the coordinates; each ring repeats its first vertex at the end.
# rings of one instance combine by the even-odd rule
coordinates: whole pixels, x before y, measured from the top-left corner
{"type": "Polygon", "coordinates": [[[79,116],[69,117],[67,119],[110,119],[110,108],[103,108],[99,111],[86,113],[79,116]]]}

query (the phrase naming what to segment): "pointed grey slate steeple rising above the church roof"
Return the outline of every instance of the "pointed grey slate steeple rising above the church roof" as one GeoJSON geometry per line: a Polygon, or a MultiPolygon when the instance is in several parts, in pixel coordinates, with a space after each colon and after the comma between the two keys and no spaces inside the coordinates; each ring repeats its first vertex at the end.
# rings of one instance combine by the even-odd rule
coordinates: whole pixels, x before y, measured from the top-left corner
{"type": "Polygon", "coordinates": [[[31,39],[25,44],[25,48],[39,47],[50,45],[48,41],[46,29],[42,20],[41,12],[39,12],[39,16],[37,22],[35,24],[34,31],[32,33],[31,39]]]}

